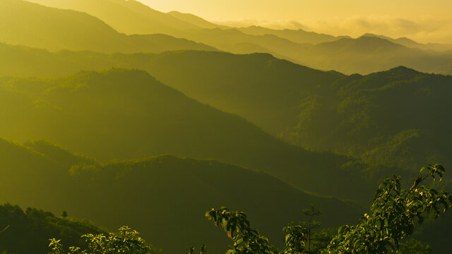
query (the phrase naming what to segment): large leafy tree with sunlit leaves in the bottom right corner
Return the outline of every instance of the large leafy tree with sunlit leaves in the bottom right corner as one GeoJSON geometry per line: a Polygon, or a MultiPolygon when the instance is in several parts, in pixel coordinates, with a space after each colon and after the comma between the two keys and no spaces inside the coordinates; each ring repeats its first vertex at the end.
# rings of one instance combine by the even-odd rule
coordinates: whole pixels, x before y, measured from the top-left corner
{"type": "Polygon", "coordinates": [[[444,168],[429,165],[410,189],[400,186],[400,176],[386,179],[375,193],[371,214],[364,214],[357,226],[341,226],[326,253],[367,254],[396,253],[400,241],[410,236],[415,224],[422,224],[424,216],[438,217],[451,207],[452,196],[420,183],[427,179],[441,181],[444,168]]]}

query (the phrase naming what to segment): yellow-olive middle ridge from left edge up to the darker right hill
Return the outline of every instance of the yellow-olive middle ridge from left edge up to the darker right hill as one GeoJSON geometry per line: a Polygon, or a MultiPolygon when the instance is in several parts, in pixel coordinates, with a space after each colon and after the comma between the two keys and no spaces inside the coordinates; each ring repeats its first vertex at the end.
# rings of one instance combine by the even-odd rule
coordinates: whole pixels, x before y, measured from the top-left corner
{"type": "Polygon", "coordinates": [[[2,75],[54,77],[111,67],[143,69],[189,97],[239,114],[273,135],[279,135],[297,123],[300,98],[306,92],[321,92],[333,81],[344,77],[340,73],[316,71],[275,59],[268,54],[52,54],[0,44],[0,56],[2,75]]]}

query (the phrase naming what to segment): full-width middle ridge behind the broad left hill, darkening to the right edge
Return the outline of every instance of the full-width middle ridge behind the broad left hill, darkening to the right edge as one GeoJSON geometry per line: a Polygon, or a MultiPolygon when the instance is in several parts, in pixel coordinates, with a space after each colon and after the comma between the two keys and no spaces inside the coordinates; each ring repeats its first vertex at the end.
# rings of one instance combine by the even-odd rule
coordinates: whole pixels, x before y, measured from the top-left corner
{"type": "Polygon", "coordinates": [[[1,75],[52,77],[80,69],[140,68],[189,97],[244,116],[302,147],[407,169],[452,164],[446,132],[450,76],[408,68],[347,76],[267,54],[52,54],[0,44],[0,55],[1,75]],[[437,119],[441,124],[429,124],[437,119]],[[420,145],[421,140],[430,145],[420,145]]]}

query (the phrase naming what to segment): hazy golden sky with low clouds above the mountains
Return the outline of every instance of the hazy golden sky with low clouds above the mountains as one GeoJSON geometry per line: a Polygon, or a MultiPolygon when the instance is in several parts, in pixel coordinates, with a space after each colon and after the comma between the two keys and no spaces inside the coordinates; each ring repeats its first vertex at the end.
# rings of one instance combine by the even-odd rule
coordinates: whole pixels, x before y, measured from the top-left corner
{"type": "Polygon", "coordinates": [[[140,1],[158,11],[193,13],[226,24],[304,28],[333,35],[374,32],[452,44],[452,0],[140,1]]]}

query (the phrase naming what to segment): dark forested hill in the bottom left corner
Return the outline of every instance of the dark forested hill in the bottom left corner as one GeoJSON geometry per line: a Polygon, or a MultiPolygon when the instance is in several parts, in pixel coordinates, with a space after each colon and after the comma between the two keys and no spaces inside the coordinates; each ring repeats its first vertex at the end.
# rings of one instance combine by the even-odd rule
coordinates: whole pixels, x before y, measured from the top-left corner
{"type": "MultiPolygon", "coordinates": [[[[8,170],[8,169],[6,169],[8,170]]],[[[22,210],[17,205],[0,205],[1,253],[49,253],[49,239],[61,239],[65,246],[83,246],[83,234],[104,234],[89,222],[72,217],[57,217],[52,212],[35,208],[22,210]]]]}

